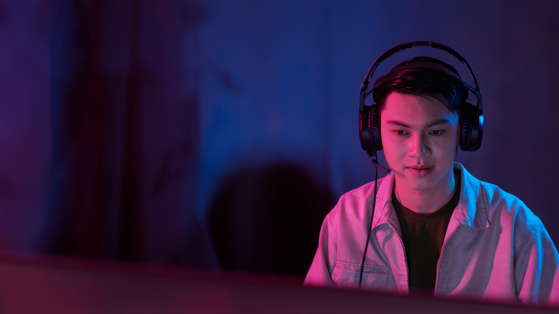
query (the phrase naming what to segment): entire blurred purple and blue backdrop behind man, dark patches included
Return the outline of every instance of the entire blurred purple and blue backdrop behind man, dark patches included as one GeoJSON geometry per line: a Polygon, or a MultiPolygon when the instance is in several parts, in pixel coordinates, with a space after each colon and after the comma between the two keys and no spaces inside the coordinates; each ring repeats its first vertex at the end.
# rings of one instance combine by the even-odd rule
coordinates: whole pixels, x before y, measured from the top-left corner
{"type": "Polygon", "coordinates": [[[457,161],[522,199],[557,244],[558,17],[556,1],[2,1],[0,248],[304,272],[325,213],[374,175],[357,137],[362,79],[409,40],[470,62],[484,140],[457,161]],[[64,82],[83,97],[56,97],[77,91],[64,82]],[[97,104],[86,126],[75,108],[97,104]],[[63,123],[105,135],[64,137],[63,123]],[[295,246],[310,253],[282,268],[295,246]]]}

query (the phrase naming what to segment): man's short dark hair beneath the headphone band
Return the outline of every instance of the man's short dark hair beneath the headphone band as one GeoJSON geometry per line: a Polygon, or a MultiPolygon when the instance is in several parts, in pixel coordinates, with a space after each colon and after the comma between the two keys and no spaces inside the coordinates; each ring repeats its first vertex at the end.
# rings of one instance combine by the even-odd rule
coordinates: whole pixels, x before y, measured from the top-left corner
{"type": "MultiPolygon", "coordinates": [[[[400,65],[412,62],[435,62],[446,66],[448,69],[456,73],[456,69],[452,65],[444,63],[435,58],[419,56],[410,60],[406,60],[396,65],[392,70],[400,65]]],[[[382,79],[379,78],[378,80],[382,79]]],[[[373,91],[373,99],[377,106],[377,112],[380,114],[386,106],[386,97],[392,92],[414,94],[421,97],[433,97],[438,99],[452,113],[458,116],[461,114],[461,104],[468,97],[467,88],[456,81],[451,75],[441,70],[431,68],[415,68],[403,70],[396,77],[380,84],[373,91]]]]}

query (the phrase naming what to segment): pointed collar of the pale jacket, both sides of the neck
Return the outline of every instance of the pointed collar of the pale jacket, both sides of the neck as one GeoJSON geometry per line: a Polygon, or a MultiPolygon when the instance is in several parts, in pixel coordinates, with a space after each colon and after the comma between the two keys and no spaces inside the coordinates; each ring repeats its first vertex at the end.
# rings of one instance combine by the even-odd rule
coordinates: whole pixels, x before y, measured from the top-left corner
{"type": "MultiPolygon", "coordinates": [[[[454,169],[458,169],[461,175],[460,199],[452,213],[448,225],[458,223],[468,225],[476,229],[489,227],[489,219],[486,213],[486,202],[481,193],[481,182],[473,177],[460,163],[454,163],[454,169]]],[[[391,223],[400,227],[394,205],[392,205],[392,189],[394,188],[394,173],[378,180],[377,203],[373,217],[373,228],[382,223],[391,223]]],[[[372,195],[371,195],[372,197],[372,195]]]]}

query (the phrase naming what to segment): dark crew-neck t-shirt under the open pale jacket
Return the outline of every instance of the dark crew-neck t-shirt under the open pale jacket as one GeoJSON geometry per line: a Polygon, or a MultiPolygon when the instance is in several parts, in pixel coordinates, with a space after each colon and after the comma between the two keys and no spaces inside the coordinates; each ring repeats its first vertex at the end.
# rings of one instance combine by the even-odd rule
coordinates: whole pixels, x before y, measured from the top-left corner
{"type": "Polygon", "coordinates": [[[448,222],[460,198],[461,173],[456,169],[454,169],[454,180],[456,180],[456,189],[451,200],[439,210],[428,214],[415,213],[402,206],[396,198],[395,190],[392,190],[392,204],[400,221],[402,241],[404,241],[406,261],[408,261],[410,292],[415,288],[422,291],[435,289],[440,249],[443,246],[448,222]]]}

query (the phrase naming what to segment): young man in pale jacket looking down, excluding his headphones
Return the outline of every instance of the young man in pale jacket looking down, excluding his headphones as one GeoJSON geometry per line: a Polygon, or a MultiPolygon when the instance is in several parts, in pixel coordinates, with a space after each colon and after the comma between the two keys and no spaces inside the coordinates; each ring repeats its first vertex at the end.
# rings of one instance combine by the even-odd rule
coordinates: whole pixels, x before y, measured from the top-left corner
{"type": "MultiPolygon", "coordinates": [[[[405,63],[416,61],[456,72],[433,58],[405,63]]],[[[373,98],[392,172],[377,182],[362,287],[559,305],[559,255],[542,221],[454,162],[465,86],[411,68],[373,98]]],[[[326,216],[306,285],[358,287],[374,188],[345,193],[326,216]]]]}

